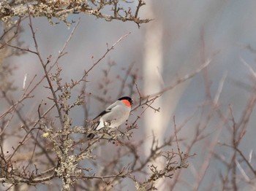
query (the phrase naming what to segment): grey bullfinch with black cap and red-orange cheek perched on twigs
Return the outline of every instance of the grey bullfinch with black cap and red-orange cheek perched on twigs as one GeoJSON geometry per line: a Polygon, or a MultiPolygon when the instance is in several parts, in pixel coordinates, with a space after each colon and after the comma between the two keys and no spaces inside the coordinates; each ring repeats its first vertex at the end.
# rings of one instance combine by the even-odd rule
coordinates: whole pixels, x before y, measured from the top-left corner
{"type": "MultiPolygon", "coordinates": [[[[121,124],[126,122],[129,118],[129,113],[132,108],[132,98],[124,96],[118,98],[113,104],[107,107],[97,117],[94,118],[94,122],[97,122],[94,130],[100,130],[102,128],[118,128],[121,124]]],[[[89,133],[87,136],[89,139],[94,138],[94,133],[89,133]]]]}

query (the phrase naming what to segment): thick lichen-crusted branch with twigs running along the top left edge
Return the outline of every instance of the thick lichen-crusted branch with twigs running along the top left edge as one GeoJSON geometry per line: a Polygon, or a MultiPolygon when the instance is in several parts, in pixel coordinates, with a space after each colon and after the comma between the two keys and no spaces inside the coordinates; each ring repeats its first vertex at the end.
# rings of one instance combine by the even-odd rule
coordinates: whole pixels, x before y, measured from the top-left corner
{"type": "Polygon", "coordinates": [[[140,8],[146,5],[142,0],[119,1],[119,0],[3,0],[0,2],[0,19],[7,26],[11,26],[17,17],[47,17],[53,24],[53,17],[58,18],[67,24],[72,23],[67,17],[70,14],[83,12],[86,15],[94,15],[107,21],[122,20],[132,21],[140,26],[141,23],[148,23],[150,19],[140,19],[138,16],[140,8]]]}

